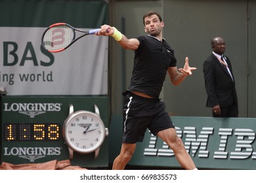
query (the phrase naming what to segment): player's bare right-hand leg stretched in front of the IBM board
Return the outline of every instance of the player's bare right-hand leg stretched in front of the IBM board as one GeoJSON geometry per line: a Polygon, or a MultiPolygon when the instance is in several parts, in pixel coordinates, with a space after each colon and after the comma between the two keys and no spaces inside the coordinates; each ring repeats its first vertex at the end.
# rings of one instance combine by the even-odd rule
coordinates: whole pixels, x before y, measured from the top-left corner
{"type": "Polygon", "coordinates": [[[169,147],[173,150],[175,157],[179,161],[180,165],[184,169],[193,170],[196,169],[196,165],[191,159],[188,152],[184,148],[184,144],[180,137],[178,137],[175,128],[165,129],[158,132],[158,137],[160,137],[164,142],[166,142],[169,147]]]}

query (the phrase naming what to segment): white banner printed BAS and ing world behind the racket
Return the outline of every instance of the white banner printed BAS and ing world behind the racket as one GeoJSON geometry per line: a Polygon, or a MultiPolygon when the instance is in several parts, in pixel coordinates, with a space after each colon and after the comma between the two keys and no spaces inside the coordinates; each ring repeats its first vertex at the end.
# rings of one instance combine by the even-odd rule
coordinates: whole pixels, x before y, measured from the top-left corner
{"type": "Polygon", "coordinates": [[[50,53],[41,46],[45,29],[0,27],[0,87],[8,95],[107,95],[108,37],[87,35],[50,53]]]}

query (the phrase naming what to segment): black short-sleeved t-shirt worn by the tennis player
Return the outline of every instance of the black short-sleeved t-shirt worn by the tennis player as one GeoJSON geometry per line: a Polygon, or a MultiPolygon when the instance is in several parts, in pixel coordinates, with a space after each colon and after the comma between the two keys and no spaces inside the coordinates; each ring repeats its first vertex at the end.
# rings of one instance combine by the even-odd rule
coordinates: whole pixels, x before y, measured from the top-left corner
{"type": "Polygon", "coordinates": [[[128,91],[142,92],[159,98],[168,67],[176,67],[174,51],[165,41],[155,37],[140,36],[135,50],[133,75],[128,91]]]}

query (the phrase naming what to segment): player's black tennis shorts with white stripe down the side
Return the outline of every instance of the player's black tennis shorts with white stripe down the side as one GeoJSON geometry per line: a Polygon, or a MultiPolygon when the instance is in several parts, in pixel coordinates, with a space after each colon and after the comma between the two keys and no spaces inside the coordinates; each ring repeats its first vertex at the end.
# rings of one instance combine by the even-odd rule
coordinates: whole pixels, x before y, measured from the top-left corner
{"type": "Polygon", "coordinates": [[[157,135],[159,131],[175,127],[160,99],[148,99],[131,92],[124,95],[122,142],[142,142],[147,128],[157,135]]]}

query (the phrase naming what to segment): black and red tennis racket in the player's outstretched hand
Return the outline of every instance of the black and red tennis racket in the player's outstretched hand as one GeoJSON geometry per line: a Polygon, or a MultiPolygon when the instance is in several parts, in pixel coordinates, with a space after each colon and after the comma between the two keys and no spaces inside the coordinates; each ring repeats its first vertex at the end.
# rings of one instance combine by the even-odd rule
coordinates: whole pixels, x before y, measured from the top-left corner
{"type": "Polygon", "coordinates": [[[43,48],[49,52],[61,52],[66,50],[66,48],[70,47],[81,37],[84,37],[85,35],[94,35],[98,31],[100,31],[100,29],[83,31],[66,23],[56,23],[45,30],[41,39],[41,44],[43,48]],[[80,32],[80,35],[76,37],[78,32],[80,32]]]}

